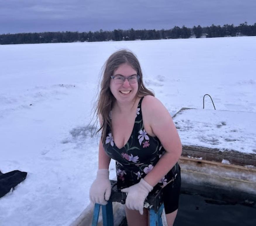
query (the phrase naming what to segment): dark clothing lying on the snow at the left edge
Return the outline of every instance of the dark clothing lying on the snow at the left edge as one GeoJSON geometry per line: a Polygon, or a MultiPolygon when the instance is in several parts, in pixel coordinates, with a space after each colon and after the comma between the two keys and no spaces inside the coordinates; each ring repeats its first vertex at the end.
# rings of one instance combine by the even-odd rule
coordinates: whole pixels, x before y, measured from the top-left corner
{"type": "Polygon", "coordinates": [[[27,172],[14,170],[8,173],[0,171],[0,198],[7,194],[12,188],[26,179],[27,172]]]}

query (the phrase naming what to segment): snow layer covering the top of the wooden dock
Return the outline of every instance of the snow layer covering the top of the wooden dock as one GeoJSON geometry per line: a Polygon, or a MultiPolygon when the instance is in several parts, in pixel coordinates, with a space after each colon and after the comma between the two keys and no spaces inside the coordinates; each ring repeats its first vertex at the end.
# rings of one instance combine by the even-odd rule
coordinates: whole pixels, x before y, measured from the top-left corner
{"type": "Polygon", "coordinates": [[[256,112],[185,109],[173,121],[183,145],[256,154],[256,112]]]}

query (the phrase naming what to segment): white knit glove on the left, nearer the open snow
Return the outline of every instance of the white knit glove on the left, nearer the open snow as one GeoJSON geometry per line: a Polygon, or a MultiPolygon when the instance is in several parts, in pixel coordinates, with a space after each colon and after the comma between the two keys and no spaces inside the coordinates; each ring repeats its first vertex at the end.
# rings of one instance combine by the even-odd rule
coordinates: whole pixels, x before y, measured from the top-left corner
{"type": "Polygon", "coordinates": [[[92,203],[106,205],[111,195],[111,183],[109,180],[109,170],[99,169],[97,177],[90,187],[90,200],[92,203]]]}

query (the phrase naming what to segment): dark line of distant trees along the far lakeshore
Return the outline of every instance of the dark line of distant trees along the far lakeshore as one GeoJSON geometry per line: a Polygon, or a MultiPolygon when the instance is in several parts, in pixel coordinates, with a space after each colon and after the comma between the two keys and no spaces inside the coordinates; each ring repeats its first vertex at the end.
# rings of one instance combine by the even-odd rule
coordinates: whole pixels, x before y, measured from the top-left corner
{"type": "Polygon", "coordinates": [[[129,41],[129,40],[157,40],[157,39],[188,39],[188,38],[215,38],[233,36],[256,36],[256,23],[247,22],[234,26],[233,24],[212,25],[193,28],[173,27],[165,30],[121,30],[96,32],[41,32],[0,34],[0,44],[32,44],[32,43],[59,43],[59,42],[93,42],[93,41],[129,41]]]}

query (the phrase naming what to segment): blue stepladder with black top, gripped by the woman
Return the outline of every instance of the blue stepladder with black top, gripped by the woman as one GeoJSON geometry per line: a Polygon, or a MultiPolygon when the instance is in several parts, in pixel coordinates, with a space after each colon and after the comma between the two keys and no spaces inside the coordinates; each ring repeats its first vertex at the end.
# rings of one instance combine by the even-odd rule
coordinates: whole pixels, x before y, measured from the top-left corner
{"type": "MultiPolygon", "coordinates": [[[[121,192],[121,189],[117,188],[116,181],[111,180],[111,185],[112,191],[108,203],[106,205],[100,205],[96,203],[94,206],[92,226],[97,226],[100,206],[102,207],[103,226],[113,226],[114,219],[112,202],[120,202],[125,204],[126,193],[121,192]]],[[[150,226],[163,226],[161,215],[164,209],[164,204],[161,197],[162,191],[154,189],[152,192],[150,192],[145,200],[147,206],[149,206],[150,226]]]]}

